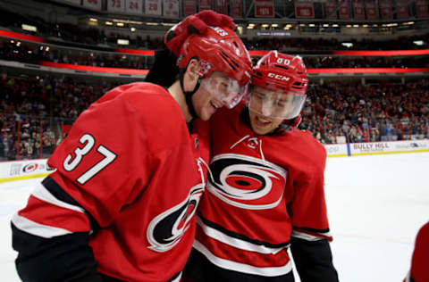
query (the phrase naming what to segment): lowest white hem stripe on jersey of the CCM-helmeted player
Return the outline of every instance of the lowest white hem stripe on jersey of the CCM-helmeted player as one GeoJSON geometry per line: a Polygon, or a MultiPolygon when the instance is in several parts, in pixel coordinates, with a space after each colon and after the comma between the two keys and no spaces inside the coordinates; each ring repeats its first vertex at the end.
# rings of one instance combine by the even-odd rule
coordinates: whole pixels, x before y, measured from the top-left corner
{"type": "Polygon", "coordinates": [[[214,265],[226,269],[226,270],[234,270],[241,273],[248,273],[253,275],[260,275],[265,277],[274,277],[288,274],[292,270],[292,264],[290,261],[281,267],[266,267],[266,268],[258,268],[255,266],[251,266],[248,264],[229,261],[215,256],[213,253],[207,250],[207,248],[202,245],[198,240],[194,241],[194,248],[198,250],[198,252],[203,253],[208,261],[211,261],[214,265]]]}

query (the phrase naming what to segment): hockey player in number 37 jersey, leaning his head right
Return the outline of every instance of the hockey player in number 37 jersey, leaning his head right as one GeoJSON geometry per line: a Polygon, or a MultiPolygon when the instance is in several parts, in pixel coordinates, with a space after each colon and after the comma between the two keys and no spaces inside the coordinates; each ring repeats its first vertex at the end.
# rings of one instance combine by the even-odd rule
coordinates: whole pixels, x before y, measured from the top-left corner
{"type": "Polygon", "coordinates": [[[208,161],[204,126],[190,121],[237,104],[250,78],[232,28],[214,12],[187,18],[166,37],[180,79],[116,87],[82,112],[48,160],[55,172],[13,216],[22,280],[181,279],[208,161]]]}

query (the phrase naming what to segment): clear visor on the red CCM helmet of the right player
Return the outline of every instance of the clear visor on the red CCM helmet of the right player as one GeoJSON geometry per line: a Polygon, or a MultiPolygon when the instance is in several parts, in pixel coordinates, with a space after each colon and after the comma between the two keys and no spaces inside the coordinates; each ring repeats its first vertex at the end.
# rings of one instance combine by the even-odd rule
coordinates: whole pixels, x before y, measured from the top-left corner
{"type": "Polygon", "coordinates": [[[248,109],[272,119],[290,120],[301,112],[307,95],[281,93],[255,87],[248,95],[248,109]]]}

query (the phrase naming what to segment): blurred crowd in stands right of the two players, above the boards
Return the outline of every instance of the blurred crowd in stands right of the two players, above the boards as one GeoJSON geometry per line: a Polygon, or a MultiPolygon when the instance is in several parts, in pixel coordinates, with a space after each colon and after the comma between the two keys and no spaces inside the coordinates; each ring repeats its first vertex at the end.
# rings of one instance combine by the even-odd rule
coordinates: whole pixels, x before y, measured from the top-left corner
{"type": "Polygon", "coordinates": [[[429,137],[429,80],[334,81],[309,88],[301,129],[324,144],[429,137]]]}

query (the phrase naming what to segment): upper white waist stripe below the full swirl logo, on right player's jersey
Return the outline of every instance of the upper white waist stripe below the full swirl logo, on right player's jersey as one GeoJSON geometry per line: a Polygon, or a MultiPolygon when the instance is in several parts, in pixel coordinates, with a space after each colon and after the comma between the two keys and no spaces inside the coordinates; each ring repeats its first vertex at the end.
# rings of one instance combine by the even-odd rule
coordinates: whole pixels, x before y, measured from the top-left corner
{"type": "Polygon", "coordinates": [[[223,244],[231,245],[240,250],[244,250],[248,252],[256,252],[256,253],[264,253],[264,254],[275,254],[289,247],[289,245],[286,245],[279,248],[270,248],[265,245],[256,245],[248,241],[241,240],[239,238],[228,236],[223,232],[216,230],[214,228],[211,228],[206,224],[204,224],[203,220],[201,220],[199,216],[197,216],[197,224],[199,225],[200,228],[203,229],[206,236],[214,238],[215,240],[220,241],[223,244]]]}

